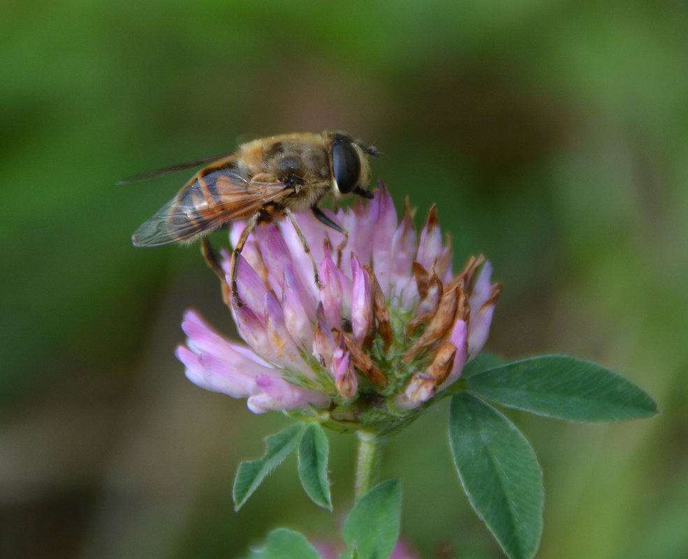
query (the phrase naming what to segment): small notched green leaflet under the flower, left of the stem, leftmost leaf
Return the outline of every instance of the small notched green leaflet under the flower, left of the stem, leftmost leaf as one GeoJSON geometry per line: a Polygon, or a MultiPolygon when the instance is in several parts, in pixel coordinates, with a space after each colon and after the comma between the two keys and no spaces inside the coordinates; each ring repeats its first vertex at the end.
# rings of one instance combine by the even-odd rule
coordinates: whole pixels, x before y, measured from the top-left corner
{"type": "Polygon", "coordinates": [[[263,458],[251,462],[242,462],[234,479],[234,509],[239,510],[272,470],[277,468],[298,445],[303,423],[295,423],[276,435],[265,438],[263,458]]]}

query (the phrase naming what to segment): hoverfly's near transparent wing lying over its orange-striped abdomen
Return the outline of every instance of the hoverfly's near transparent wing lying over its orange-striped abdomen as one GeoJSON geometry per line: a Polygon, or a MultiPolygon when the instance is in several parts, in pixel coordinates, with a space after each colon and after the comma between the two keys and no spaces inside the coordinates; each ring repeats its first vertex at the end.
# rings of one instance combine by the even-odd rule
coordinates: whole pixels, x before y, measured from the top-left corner
{"type": "Polygon", "coordinates": [[[194,237],[250,216],[291,188],[279,181],[249,180],[236,170],[197,174],[172,200],[134,232],[134,246],[160,246],[194,237]]]}

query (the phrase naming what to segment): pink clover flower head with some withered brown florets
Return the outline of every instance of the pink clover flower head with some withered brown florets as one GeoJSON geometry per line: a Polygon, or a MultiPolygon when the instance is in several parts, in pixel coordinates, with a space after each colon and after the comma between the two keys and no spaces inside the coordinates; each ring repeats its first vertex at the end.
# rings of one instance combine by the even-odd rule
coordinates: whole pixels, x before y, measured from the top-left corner
{"type": "MultiPolygon", "coordinates": [[[[417,235],[408,204],[399,221],[382,183],[370,202],[328,215],[348,238],[311,214],[296,216],[320,288],[288,220],[258,227],[239,257],[241,305],[230,295],[230,254],[222,251],[225,301],[247,345],[187,311],[188,338],[176,355],[196,385],[248,398],[254,413],[392,427],[478,355],[502,285],[490,283],[492,267],[482,255],[454,275],[435,207],[417,235]]],[[[242,228],[233,224],[233,241],[242,228]]]]}

